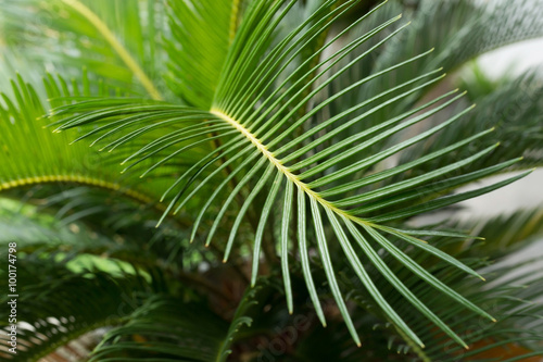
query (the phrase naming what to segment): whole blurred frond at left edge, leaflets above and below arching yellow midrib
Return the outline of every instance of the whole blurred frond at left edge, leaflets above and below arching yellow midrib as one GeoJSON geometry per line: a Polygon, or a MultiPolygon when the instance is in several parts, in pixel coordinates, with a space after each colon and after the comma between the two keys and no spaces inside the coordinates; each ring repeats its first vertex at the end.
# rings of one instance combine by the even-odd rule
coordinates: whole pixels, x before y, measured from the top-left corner
{"type": "MultiPolygon", "coordinates": [[[[56,107],[68,103],[65,97],[104,97],[115,92],[115,89],[90,82],[86,74],[83,87],[68,86],[62,77],[53,78],[51,75],[47,76],[43,84],[50,102],[56,107]]],[[[187,233],[179,232],[179,226],[187,225],[184,216],[169,220],[161,229],[155,228],[164,211],[156,203],[164,187],[161,185],[169,185],[175,179],[172,177],[176,175],[176,168],[163,168],[163,174],[153,179],[141,179],[140,173],[121,174],[123,167],[115,155],[98,152],[85,141],[71,145],[77,133],[53,134],[45,128],[47,123],[41,116],[46,107],[35,88],[21,76],[12,83],[12,88],[13,98],[2,93],[3,104],[0,104],[0,190],[3,195],[39,200],[36,202],[40,203],[42,211],[56,213],[55,217],[62,219],[65,225],[84,220],[91,229],[98,229],[102,235],[119,240],[128,238],[130,242],[104,245],[99,239],[86,237],[85,233],[70,238],[65,238],[65,233],[54,238],[40,238],[42,235],[38,230],[37,234],[28,235],[26,220],[14,224],[14,220],[18,220],[16,215],[9,217],[9,228],[2,232],[4,239],[12,229],[15,232],[11,234],[12,240],[33,238],[27,245],[30,250],[46,245],[49,249],[64,245],[64,250],[71,252],[93,250],[114,258],[123,254],[122,258],[130,262],[146,261],[153,264],[154,260],[146,260],[140,254],[142,250],[152,250],[152,254],[160,260],[192,259],[190,255],[193,255],[195,248],[188,247],[187,233]],[[134,237],[131,233],[136,230],[139,233],[134,237]],[[181,249],[185,249],[185,253],[180,252],[181,249]]],[[[146,163],[141,165],[146,166],[146,163]]],[[[132,171],[137,171],[137,167],[132,171]]],[[[37,222],[38,225],[41,223],[42,220],[37,222]]],[[[37,227],[36,223],[31,224],[37,227]]]]}

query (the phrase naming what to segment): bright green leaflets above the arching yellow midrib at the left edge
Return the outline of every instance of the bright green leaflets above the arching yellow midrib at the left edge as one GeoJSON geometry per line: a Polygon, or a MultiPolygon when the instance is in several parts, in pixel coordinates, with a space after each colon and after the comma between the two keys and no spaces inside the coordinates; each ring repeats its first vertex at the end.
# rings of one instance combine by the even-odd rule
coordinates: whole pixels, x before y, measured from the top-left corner
{"type": "MultiPolygon", "coordinates": [[[[91,91],[108,95],[105,87],[91,90],[92,84],[84,78],[85,89],[68,89],[66,83],[49,76],[45,79],[48,95],[53,98],[54,105],[64,104],[61,97],[73,97],[74,93],[90,96],[91,91]]],[[[98,85],[96,85],[99,87],[98,85]]],[[[156,183],[141,182],[138,175],[119,174],[122,167],[114,158],[92,151],[88,143],[70,145],[74,135],[52,134],[45,128],[41,116],[47,111],[37,91],[26,84],[22,77],[12,82],[14,99],[1,95],[0,127],[2,133],[0,171],[0,190],[28,187],[35,184],[67,183],[88,185],[106,189],[113,194],[124,195],[140,203],[153,203],[157,198],[156,183]],[[41,122],[40,122],[41,121],[41,122]],[[24,135],[24,138],[21,136],[24,135]]],[[[165,175],[167,178],[167,175],[165,175]]]]}

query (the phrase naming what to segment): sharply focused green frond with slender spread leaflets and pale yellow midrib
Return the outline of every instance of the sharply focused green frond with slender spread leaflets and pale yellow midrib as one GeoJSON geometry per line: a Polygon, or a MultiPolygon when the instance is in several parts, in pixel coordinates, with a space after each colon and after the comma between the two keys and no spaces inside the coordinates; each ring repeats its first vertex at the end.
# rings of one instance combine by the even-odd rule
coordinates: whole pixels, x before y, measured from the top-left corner
{"type": "MultiPolygon", "coordinates": [[[[113,132],[110,132],[108,135],[113,139],[113,145],[121,145],[128,140],[136,139],[140,134],[144,133],[146,127],[153,127],[155,122],[148,122],[147,118],[152,118],[156,114],[161,114],[164,118],[191,120],[194,123],[193,127],[198,129],[199,134],[205,133],[206,129],[209,132],[213,129],[215,134],[212,139],[219,138],[224,142],[217,151],[220,151],[220,157],[226,161],[215,170],[210,168],[210,166],[213,165],[214,161],[218,160],[219,157],[213,153],[202,157],[200,161],[195,162],[165,191],[163,198],[173,190],[178,190],[174,199],[169,202],[167,211],[179,211],[180,208],[182,208],[192,196],[197,195],[203,186],[207,185],[214,176],[229,166],[228,177],[216,187],[216,190],[202,208],[199,219],[195,222],[193,234],[198,230],[202,214],[205,213],[210,204],[218,201],[216,200],[217,198],[223,197],[220,195],[222,189],[228,182],[232,180],[236,186],[216,214],[216,219],[207,235],[206,244],[209,245],[223,216],[230,208],[232,199],[238,195],[242,186],[250,185],[251,191],[245,197],[245,200],[236,215],[226,244],[225,260],[227,260],[236,240],[236,234],[242,217],[252,202],[257,199],[261,191],[266,189],[267,191],[265,194],[267,194],[267,197],[261,199],[263,208],[260,214],[260,222],[255,228],[252,272],[253,283],[258,272],[258,255],[261,253],[266,222],[273,213],[272,210],[275,209],[275,205],[282,204],[282,236],[280,249],[283,265],[283,280],[289,307],[292,308],[290,302],[292,292],[289,282],[288,250],[293,241],[289,240],[288,228],[291,215],[295,213],[298,215],[296,223],[299,229],[298,242],[300,246],[302,265],[304,266],[304,275],[307,287],[311,290],[313,302],[317,308],[323,324],[326,322],[319,307],[320,304],[317,299],[315,285],[307,263],[306,226],[308,225],[313,225],[314,227],[316,239],[315,248],[319,251],[331,292],[338,303],[341,314],[345,319],[353,338],[359,344],[354,324],[352,323],[342,292],[338,286],[332,266],[333,263],[330,258],[330,249],[336,247],[330,246],[330,236],[327,236],[327,233],[325,233],[325,225],[331,224],[339,246],[350,261],[352,269],[358,275],[364,286],[370,290],[371,296],[386,312],[387,316],[399,326],[402,333],[405,333],[416,344],[424,346],[422,341],[396,311],[390,307],[387,299],[380,294],[379,288],[377,288],[371,278],[368,277],[356,257],[355,248],[362,248],[365,253],[374,255],[372,253],[375,251],[370,251],[368,247],[370,245],[378,245],[380,248],[383,248],[394,255],[394,258],[396,258],[408,271],[417,275],[425,283],[428,283],[428,285],[457,301],[463,308],[470,309],[488,319],[492,319],[487,312],[476,307],[414,262],[404,252],[397,249],[390,239],[401,238],[414,247],[425,250],[429,254],[441,258],[464,272],[478,275],[476,272],[431,245],[414,237],[414,234],[389,227],[386,223],[392,220],[417,215],[488,192],[518,179],[525,174],[476,191],[440,198],[443,192],[447,192],[459,185],[504,170],[517,161],[512,160],[477,172],[463,173],[457,177],[443,179],[443,175],[458,172],[463,166],[492,152],[496,147],[494,145],[476,154],[466,157],[463,160],[458,160],[425,175],[411,177],[391,184],[384,188],[371,188],[371,185],[378,180],[402,174],[415,165],[429,162],[442,154],[452,152],[469,141],[476,140],[488,134],[489,130],[484,130],[475,134],[466,140],[452,145],[443,145],[442,149],[439,151],[429,153],[425,158],[420,158],[408,164],[390,170],[374,168],[378,162],[454,124],[467,113],[469,109],[458,112],[446,122],[427,132],[390,145],[376,154],[362,158],[354,164],[344,164],[343,161],[349,157],[359,154],[362,150],[376,142],[389,140],[400,130],[415,125],[421,120],[441,111],[446,105],[454,103],[462,95],[457,96],[455,91],[446,93],[419,108],[396,114],[374,127],[364,128],[361,132],[352,133],[350,137],[342,138],[341,140],[333,139],[333,142],[330,142],[330,140],[340,134],[341,130],[348,129],[353,125],[364,124],[367,118],[372,116],[374,112],[391,103],[402,102],[417,90],[422,89],[429,84],[439,82],[441,79],[441,76],[439,76],[440,70],[430,71],[419,77],[406,80],[395,88],[388,89],[381,95],[367,99],[351,109],[344,110],[342,113],[328,120],[324,120],[314,127],[305,128],[304,125],[306,126],[315,122],[315,118],[319,116],[319,112],[334,99],[338,99],[349,91],[354,91],[363,84],[379,82],[381,75],[400,70],[403,66],[408,66],[412,62],[428,54],[425,53],[407,59],[382,72],[365,77],[351,87],[330,95],[327,99],[319,100],[317,103],[312,103],[315,97],[319,95],[320,90],[353,66],[353,64],[356,64],[356,61],[352,61],[332,74],[327,74],[327,71],[350,54],[359,43],[364,43],[375,34],[379,34],[381,30],[384,30],[388,25],[399,20],[399,17],[394,17],[359,38],[354,39],[351,43],[345,45],[328,55],[328,58],[320,60],[318,64],[315,64],[315,68],[319,70],[317,73],[308,72],[302,74],[299,71],[293,71],[285,77],[281,84],[277,85],[276,82],[279,79],[282,71],[301,53],[302,49],[304,49],[304,45],[308,43],[314,37],[318,37],[323,34],[323,32],[327,29],[327,26],[354,2],[346,2],[336,8],[332,13],[330,13],[328,7],[332,3],[332,1],[325,2],[306,22],[300,24],[300,26],[293,29],[285,39],[278,39],[276,46],[273,47],[272,50],[268,49],[268,45],[272,42],[274,29],[292,8],[293,2],[262,1],[253,3],[245,13],[244,21],[236,34],[229,49],[211,110],[200,110],[175,104],[150,103],[143,107],[142,111],[139,111],[135,102],[125,99],[113,101],[86,100],[75,104],[60,107],[52,114],[62,120],[58,122],[58,124],[60,124],[59,130],[100,122],[103,126],[98,129],[106,132],[112,129],[114,125],[111,121],[124,116],[124,125],[130,126],[132,129],[128,132],[126,128],[114,128],[113,132]],[[314,25],[308,26],[310,22],[314,25]],[[328,75],[327,78],[323,78],[325,74],[328,75]],[[311,89],[311,91],[302,100],[298,100],[296,96],[307,89],[311,89]],[[388,101],[381,101],[382,97],[387,97],[390,93],[394,93],[395,96],[388,101]],[[439,101],[442,101],[439,107],[432,107],[439,101]],[[313,104],[313,108],[310,107],[310,104],[313,104]],[[367,107],[368,110],[365,113],[355,115],[355,112],[364,107],[367,107]],[[299,117],[296,116],[298,111],[302,108],[308,109],[308,111],[303,116],[299,117]],[[66,117],[66,115],[71,113],[76,113],[76,115],[66,117]],[[134,116],[131,118],[126,118],[128,115],[134,116]],[[127,120],[130,121],[127,122],[127,120]],[[340,127],[337,127],[337,122],[340,120],[342,120],[343,123],[340,127]],[[207,123],[212,123],[213,126],[207,127],[207,123]],[[306,129],[305,133],[300,136],[293,136],[293,130],[300,127],[304,127],[306,129]],[[207,171],[207,168],[210,168],[210,171],[207,171]],[[353,174],[361,172],[364,175],[363,177],[357,177],[356,179],[351,177],[353,174]],[[200,179],[198,185],[193,184],[195,179],[200,179]],[[282,200],[280,200],[281,198],[282,200]],[[292,210],[291,205],[294,200],[298,200],[296,208],[292,210]],[[408,203],[406,203],[406,201],[408,201],[408,203]]],[[[377,10],[378,9],[375,11],[377,10]]],[[[364,18],[365,17],[359,21],[364,21],[364,18]]],[[[399,30],[392,32],[391,35],[386,37],[381,42],[378,42],[375,47],[379,47],[389,38],[392,38],[401,28],[402,27],[400,27],[399,30]]],[[[315,57],[329,48],[340,36],[341,33],[334,39],[324,43],[316,52],[315,57]]],[[[367,57],[370,51],[362,53],[359,58],[367,57]]],[[[311,59],[306,62],[308,61],[311,61],[311,59]]],[[[184,128],[180,128],[179,132],[182,132],[182,129],[184,128]]],[[[96,133],[96,129],[92,130],[92,133],[96,133]]],[[[126,161],[130,161],[131,165],[135,165],[140,161],[154,158],[157,151],[168,149],[169,154],[162,159],[154,158],[155,164],[149,168],[149,171],[154,168],[160,170],[165,162],[174,160],[177,155],[182,157],[187,154],[185,152],[186,149],[193,148],[200,142],[199,140],[194,140],[186,147],[173,148],[173,146],[185,139],[186,138],[179,136],[174,137],[174,135],[166,135],[143,146],[141,150],[136,153],[124,151],[124,154],[127,157],[126,161]]],[[[148,172],[144,174],[147,173],[148,172]]],[[[424,234],[425,233],[422,233],[422,235],[424,234]]],[[[431,235],[432,232],[427,232],[426,234],[431,235]]],[[[376,258],[379,259],[379,257],[376,258]]],[[[377,263],[378,259],[374,259],[372,262],[377,263]]],[[[441,319],[428,309],[426,304],[421,303],[415,295],[408,291],[400,279],[384,270],[382,273],[388,275],[389,282],[403,294],[406,300],[415,307],[418,312],[428,317],[446,335],[451,336],[451,338],[464,345],[464,341],[445,325],[441,319]]]]}

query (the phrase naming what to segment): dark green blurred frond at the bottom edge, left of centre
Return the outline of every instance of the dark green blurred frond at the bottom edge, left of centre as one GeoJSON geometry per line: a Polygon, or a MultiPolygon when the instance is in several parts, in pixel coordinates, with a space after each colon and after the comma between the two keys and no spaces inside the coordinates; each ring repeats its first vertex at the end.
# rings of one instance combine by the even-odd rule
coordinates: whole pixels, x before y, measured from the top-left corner
{"type": "Polygon", "coordinates": [[[150,298],[126,324],[104,336],[90,361],[224,362],[238,330],[251,325],[248,312],[258,303],[263,287],[244,294],[230,325],[202,304],[163,296],[150,298]]]}

